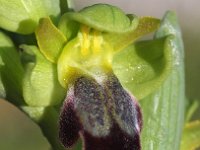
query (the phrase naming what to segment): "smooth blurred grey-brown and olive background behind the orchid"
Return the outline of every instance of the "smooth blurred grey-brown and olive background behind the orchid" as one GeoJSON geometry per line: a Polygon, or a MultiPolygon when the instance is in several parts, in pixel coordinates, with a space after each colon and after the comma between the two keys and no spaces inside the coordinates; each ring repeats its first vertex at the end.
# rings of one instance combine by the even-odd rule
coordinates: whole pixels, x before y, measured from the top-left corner
{"type": "MultiPolygon", "coordinates": [[[[76,10],[95,3],[110,3],[127,13],[161,18],[166,10],[177,12],[185,45],[186,96],[200,99],[200,1],[199,0],[75,0],[76,10]]],[[[0,99],[0,150],[49,150],[37,125],[13,105],[0,99]]]]}

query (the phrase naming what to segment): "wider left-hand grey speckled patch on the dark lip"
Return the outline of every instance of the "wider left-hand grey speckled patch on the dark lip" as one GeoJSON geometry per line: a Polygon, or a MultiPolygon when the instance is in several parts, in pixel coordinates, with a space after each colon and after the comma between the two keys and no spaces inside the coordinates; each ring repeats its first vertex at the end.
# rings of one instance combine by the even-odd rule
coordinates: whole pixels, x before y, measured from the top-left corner
{"type": "Polygon", "coordinates": [[[84,129],[95,136],[109,134],[111,122],[105,107],[103,88],[94,80],[77,79],[74,85],[75,110],[84,124],[84,129]]]}

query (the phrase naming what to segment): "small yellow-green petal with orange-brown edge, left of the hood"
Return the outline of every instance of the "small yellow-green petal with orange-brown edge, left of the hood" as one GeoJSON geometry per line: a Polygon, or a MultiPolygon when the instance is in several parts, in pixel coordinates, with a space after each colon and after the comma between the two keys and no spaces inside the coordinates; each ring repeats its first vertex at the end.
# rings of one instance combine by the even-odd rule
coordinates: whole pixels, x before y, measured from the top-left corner
{"type": "Polygon", "coordinates": [[[41,19],[35,33],[42,54],[56,63],[67,41],[65,36],[53,25],[50,18],[41,19]]]}

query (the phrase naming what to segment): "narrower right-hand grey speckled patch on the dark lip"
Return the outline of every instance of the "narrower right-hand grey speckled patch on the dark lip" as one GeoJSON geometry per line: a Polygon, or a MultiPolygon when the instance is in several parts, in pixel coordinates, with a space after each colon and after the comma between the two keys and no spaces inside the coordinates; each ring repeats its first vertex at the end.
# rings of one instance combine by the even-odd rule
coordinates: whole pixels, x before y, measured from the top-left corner
{"type": "Polygon", "coordinates": [[[123,89],[119,80],[111,75],[105,82],[107,93],[109,93],[111,114],[118,125],[128,134],[139,134],[142,123],[139,123],[142,116],[136,100],[126,90],[123,89]],[[139,119],[138,119],[139,118],[139,119]]]}

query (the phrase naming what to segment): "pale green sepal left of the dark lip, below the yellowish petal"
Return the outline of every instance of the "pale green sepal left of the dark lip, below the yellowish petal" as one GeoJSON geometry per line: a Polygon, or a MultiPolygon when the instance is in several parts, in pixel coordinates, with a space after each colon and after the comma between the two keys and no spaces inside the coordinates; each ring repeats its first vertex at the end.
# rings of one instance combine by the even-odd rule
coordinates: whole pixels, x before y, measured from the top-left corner
{"type": "Polygon", "coordinates": [[[56,65],[49,62],[37,47],[22,45],[27,53],[33,53],[35,62],[26,66],[23,82],[23,96],[29,106],[59,104],[65,96],[65,89],[58,82],[56,65]]]}

